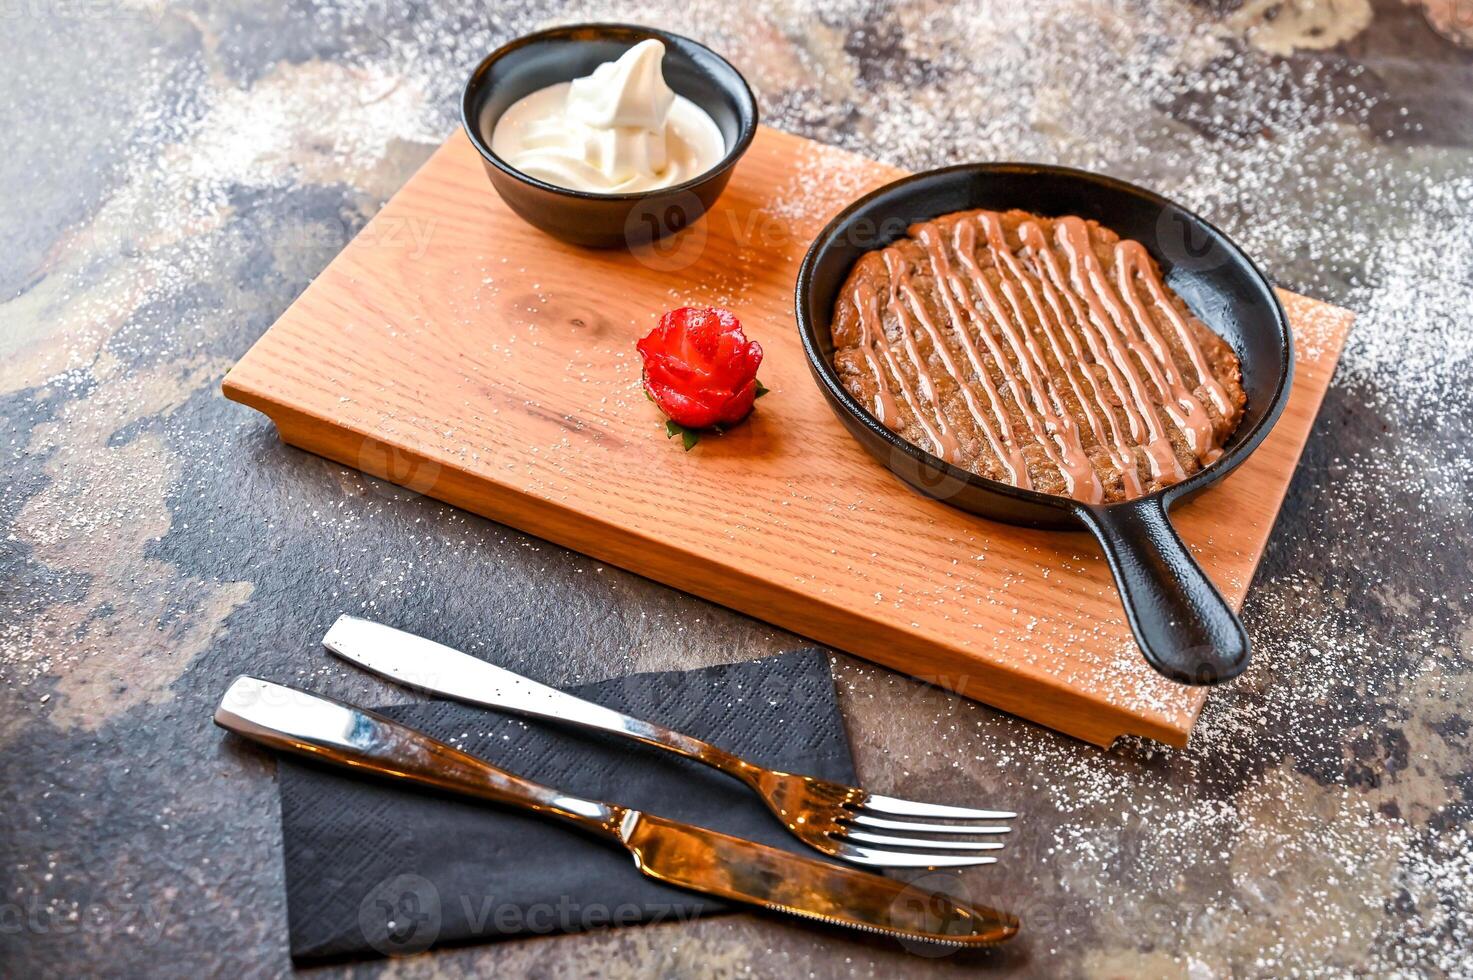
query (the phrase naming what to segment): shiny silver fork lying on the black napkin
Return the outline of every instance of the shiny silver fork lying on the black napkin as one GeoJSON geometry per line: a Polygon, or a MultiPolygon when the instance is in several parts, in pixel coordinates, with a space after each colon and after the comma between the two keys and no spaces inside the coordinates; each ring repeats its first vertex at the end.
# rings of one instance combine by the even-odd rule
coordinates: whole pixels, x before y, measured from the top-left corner
{"type": "Polygon", "coordinates": [[[854,864],[885,868],[993,864],[997,859],[987,852],[1002,849],[1002,843],[966,837],[1006,834],[1010,827],[997,821],[1016,816],[1006,811],[916,803],[831,780],[766,769],[700,738],[629,718],[433,640],[355,616],[340,616],[323,637],[323,645],[395,684],[470,704],[625,735],[704,762],[751,787],[794,837],[854,864]]]}

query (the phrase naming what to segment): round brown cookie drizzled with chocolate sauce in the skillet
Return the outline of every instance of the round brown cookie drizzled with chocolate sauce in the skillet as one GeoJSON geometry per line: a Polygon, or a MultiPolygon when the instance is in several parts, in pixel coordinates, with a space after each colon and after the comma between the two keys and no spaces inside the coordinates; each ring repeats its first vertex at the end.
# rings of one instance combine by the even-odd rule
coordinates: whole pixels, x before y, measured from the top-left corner
{"type": "Polygon", "coordinates": [[[1237,357],[1145,246],[1096,221],[957,211],[860,256],[834,365],[947,463],[1099,504],[1177,483],[1243,417],[1237,357]]]}

